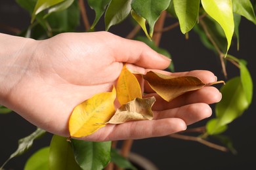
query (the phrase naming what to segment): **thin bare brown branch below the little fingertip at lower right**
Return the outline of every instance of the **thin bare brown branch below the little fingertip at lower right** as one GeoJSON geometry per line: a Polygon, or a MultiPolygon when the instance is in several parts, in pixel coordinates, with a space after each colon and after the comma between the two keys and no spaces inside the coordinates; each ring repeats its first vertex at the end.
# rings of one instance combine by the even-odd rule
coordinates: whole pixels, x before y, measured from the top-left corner
{"type": "Polygon", "coordinates": [[[192,137],[192,136],[188,136],[188,135],[179,135],[177,133],[171,134],[171,135],[169,135],[169,137],[173,137],[173,138],[177,138],[177,139],[183,139],[183,140],[186,140],[186,141],[196,141],[196,142],[205,144],[206,146],[209,146],[211,148],[215,148],[215,149],[221,150],[223,152],[228,152],[228,148],[226,148],[224,146],[219,146],[218,144],[210,143],[209,141],[205,141],[201,137],[192,137]]]}

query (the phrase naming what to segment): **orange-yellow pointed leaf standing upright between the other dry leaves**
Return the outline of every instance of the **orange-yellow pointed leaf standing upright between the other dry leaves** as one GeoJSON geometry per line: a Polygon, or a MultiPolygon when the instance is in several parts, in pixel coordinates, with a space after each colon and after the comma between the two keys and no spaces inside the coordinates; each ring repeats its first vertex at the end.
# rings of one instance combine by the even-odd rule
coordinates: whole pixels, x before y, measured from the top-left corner
{"type": "Polygon", "coordinates": [[[117,80],[116,92],[120,105],[125,105],[137,97],[142,98],[140,84],[136,76],[125,65],[117,80]]]}

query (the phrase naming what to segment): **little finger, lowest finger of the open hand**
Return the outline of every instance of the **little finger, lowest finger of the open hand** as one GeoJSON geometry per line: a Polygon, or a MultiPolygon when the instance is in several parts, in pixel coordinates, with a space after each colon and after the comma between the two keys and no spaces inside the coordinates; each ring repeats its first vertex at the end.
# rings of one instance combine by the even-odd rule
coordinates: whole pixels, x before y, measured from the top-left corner
{"type": "Polygon", "coordinates": [[[116,141],[125,139],[144,139],[177,133],[186,129],[186,124],[179,118],[160,120],[141,120],[124,124],[109,124],[83,140],[116,141]]]}

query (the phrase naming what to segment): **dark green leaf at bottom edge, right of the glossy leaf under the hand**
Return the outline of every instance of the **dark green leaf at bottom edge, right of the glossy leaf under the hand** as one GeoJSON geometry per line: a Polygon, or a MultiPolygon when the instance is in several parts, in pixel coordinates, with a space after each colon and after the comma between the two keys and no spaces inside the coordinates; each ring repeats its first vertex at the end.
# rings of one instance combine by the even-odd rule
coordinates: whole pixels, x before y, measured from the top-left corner
{"type": "Polygon", "coordinates": [[[111,149],[111,161],[115,163],[117,167],[121,167],[123,169],[131,169],[131,170],[137,169],[135,166],[133,166],[133,164],[129,160],[121,156],[121,154],[119,154],[117,150],[114,148],[111,149]]]}

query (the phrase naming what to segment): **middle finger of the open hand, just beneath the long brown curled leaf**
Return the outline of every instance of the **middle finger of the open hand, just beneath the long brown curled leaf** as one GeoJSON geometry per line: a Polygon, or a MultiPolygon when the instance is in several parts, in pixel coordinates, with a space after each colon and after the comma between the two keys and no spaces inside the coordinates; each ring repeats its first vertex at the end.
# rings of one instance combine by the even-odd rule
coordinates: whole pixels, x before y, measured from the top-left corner
{"type": "Polygon", "coordinates": [[[152,109],[154,110],[166,110],[173,109],[175,107],[181,107],[183,105],[189,105],[192,103],[206,103],[208,105],[221,101],[221,93],[215,87],[204,87],[200,90],[188,92],[176,97],[170,102],[165,101],[156,93],[150,93],[144,95],[144,97],[156,97],[156,103],[154,103],[152,109]]]}

